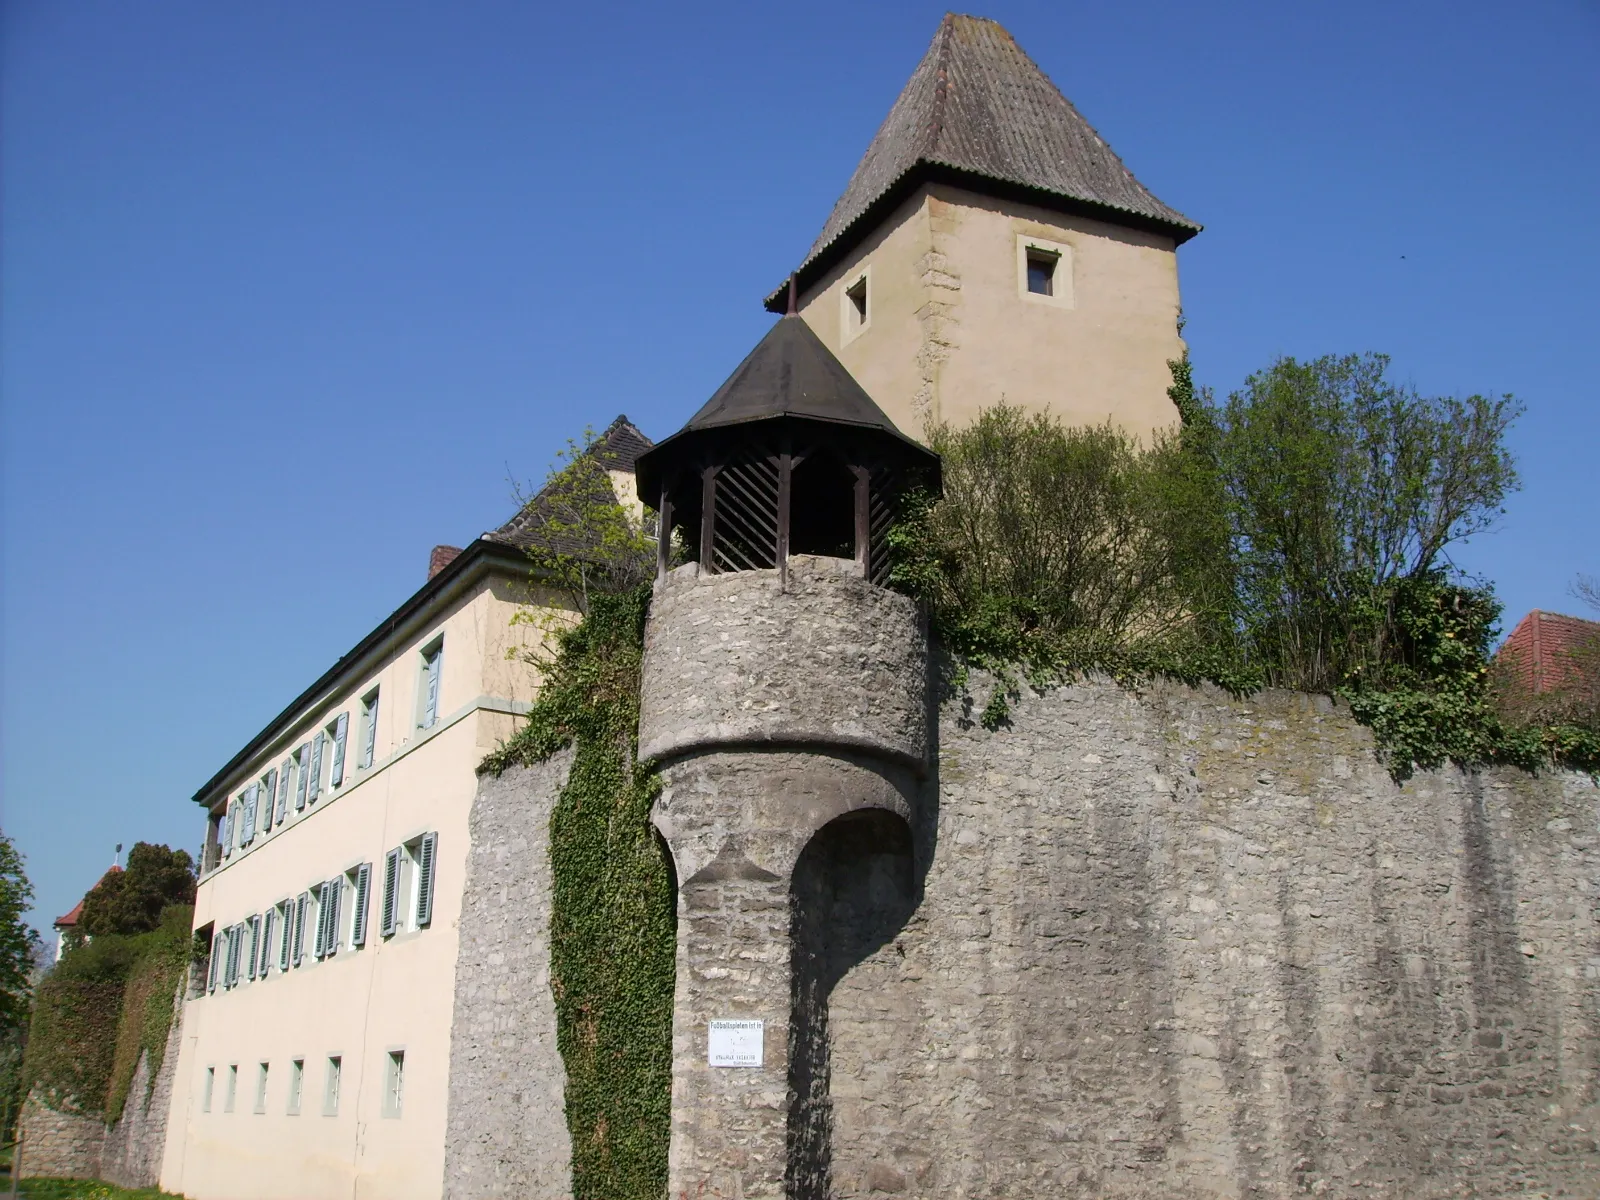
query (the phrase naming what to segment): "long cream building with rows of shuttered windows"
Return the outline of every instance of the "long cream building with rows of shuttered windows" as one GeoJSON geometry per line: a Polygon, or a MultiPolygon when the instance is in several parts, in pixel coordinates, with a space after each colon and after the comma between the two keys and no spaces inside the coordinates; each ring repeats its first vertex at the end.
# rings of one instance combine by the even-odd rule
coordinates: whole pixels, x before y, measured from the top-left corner
{"type": "MultiPolygon", "coordinates": [[[[637,506],[648,446],[598,453],[637,506]]],[[[208,814],[162,1187],[198,1200],[438,1197],[477,766],[538,691],[520,542],[538,501],[450,558],[195,795],[208,814]]],[[[448,547],[442,547],[448,549],[448,547]]]]}

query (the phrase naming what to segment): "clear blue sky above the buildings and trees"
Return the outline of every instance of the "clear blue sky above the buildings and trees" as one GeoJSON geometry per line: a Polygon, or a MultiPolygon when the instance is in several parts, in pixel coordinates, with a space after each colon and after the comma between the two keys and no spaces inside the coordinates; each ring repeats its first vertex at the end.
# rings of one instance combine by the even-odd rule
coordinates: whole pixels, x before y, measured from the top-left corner
{"type": "MultiPolygon", "coordinates": [[[[760,338],[939,5],[13,0],[3,794],[42,926],[586,424],[760,338]]],[[[1202,382],[1386,350],[1514,392],[1458,554],[1600,574],[1600,6],[1086,5],[1006,24],[1166,203],[1202,382]]]]}

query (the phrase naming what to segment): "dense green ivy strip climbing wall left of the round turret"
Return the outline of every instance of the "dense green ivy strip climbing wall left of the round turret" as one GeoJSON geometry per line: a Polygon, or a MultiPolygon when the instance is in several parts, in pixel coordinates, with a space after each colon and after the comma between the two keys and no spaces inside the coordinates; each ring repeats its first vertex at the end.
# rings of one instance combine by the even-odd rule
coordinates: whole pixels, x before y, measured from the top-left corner
{"type": "Polygon", "coordinates": [[[667,1187],[677,910],[650,826],[659,776],[635,758],[648,610],[648,584],[590,594],[582,622],[557,634],[528,722],[480,768],[574,747],[550,814],[550,990],[581,1200],[667,1187]]]}

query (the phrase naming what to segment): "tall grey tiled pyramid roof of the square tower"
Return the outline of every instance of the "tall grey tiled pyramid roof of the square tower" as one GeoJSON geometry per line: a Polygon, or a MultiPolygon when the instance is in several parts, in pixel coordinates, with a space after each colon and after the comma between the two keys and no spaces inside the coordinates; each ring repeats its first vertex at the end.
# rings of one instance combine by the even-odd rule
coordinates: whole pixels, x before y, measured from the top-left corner
{"type": "MultiPolygon", "coordinates": [[[[808,286],[917,186],[944,181],[1187,242],[1157,200],[997,21],[947,13],[800,266],[808,286]]],[[[766,299],[779,310],[782,288],[766,299]]]]}

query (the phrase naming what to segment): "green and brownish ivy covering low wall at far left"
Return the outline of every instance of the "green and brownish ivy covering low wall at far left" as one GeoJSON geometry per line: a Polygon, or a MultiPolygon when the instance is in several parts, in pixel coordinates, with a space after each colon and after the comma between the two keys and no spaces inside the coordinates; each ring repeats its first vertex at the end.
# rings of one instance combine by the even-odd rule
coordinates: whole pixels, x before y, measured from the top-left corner
{"type": "Polygon", "coordinates": [[[122,1115],[139,1051],[149,1051],[152,1082],[162,1067],[192,920],[192,907],[174,904],[158,930],[101,934],[67,950],[34,1000],[26,1091],[59,1112],[107,1123],[122,1115]]]}

